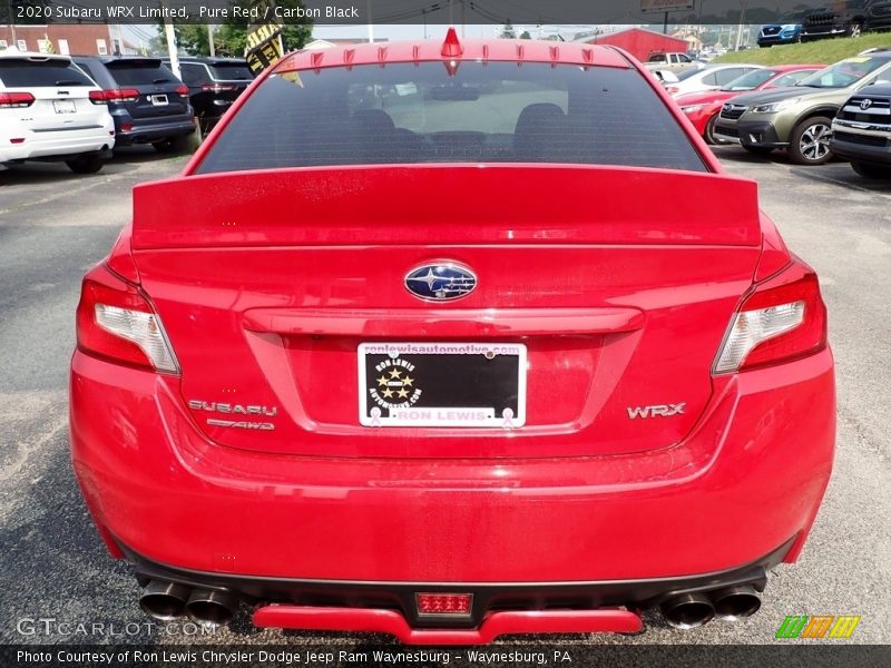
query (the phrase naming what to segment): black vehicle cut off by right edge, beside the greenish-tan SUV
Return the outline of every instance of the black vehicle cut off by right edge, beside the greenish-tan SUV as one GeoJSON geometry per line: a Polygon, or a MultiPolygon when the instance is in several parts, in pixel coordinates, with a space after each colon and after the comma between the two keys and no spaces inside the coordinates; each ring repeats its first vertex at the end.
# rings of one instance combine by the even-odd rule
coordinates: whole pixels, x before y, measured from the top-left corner
{"type": "Polygon", "coordinates": [[[868,178],[891,178],[891,84],[858,90],[832,121],[830,149],[868,178]]]}

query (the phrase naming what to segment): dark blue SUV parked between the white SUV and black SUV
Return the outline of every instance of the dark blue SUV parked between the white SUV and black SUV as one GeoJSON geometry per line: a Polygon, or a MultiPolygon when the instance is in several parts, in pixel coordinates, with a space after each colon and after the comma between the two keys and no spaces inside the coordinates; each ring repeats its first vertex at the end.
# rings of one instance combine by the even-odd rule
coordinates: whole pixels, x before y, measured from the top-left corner
{"type": "Polygon", "coordinates": [[[72,56],[104,90],[115,119],[115,147],[151,144],[159,153],[186,148],[195,131],[188,89],[159,58],[72,56]]]}

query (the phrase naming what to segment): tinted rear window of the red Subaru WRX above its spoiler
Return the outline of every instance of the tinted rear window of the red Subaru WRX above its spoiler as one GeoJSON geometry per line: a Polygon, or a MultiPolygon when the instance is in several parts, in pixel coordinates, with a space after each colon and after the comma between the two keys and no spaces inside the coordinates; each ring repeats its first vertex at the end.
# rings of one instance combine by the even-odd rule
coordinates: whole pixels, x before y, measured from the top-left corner
{"type": "Polygon", "coordinates": [[[421,163],[706,170],[635,70],[466,61],[273,73],[197,173],[421,163]]]}

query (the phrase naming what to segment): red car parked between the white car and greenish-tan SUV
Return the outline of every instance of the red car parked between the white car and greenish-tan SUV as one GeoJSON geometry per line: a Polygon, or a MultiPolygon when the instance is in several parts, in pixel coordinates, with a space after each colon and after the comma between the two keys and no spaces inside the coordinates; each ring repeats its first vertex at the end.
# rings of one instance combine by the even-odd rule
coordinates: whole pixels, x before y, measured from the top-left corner
{"type": "Polygon", "coordinates": [[[721,90],[705,92],[691,92],[675,98],[681,110],[693,121],[696,131],[708,144],[723,144],[715,138],[714,127],[721,107],[728,99],[748,90],[767,90],[794,86],[806,76],[826,67],[825,65],[775,65],[770,68],[755,70],[731,81],[721,90]]]}

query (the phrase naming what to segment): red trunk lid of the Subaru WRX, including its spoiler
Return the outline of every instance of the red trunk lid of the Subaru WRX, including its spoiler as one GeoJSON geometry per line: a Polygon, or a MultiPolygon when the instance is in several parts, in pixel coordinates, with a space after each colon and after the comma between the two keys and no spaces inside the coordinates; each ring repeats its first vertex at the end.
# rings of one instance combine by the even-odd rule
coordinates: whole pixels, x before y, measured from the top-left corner
{"type": "MultiPolygon", "coordinates": [[[[221,444],[303,455],[673,445],[708,403],[761,248],[753,183],[646,168],[190,176],[138,186],[135,210],[134,256],[182,365],[184,410],[221,444]],[[477,288],[446,302],[407,289],[408,273],[442,262],[471,269],[477,288]],[[525,346],[525,424],[363,425],[358,350],[383,342],[525,346]]],[[[452,377],[425,389],[472,390],[443,389],[452,377]]]]}

